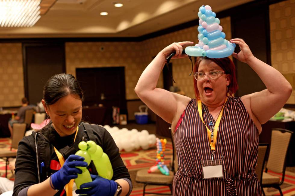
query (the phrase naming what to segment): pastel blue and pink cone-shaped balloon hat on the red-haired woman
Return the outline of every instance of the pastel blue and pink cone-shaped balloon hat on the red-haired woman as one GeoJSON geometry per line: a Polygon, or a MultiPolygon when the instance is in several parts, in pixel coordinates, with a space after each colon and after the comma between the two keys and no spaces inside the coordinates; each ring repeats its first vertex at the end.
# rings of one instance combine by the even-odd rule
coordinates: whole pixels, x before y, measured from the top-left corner
{"type": "Polygon", "coordinates": [[[220,20],[212,12],[209,5],[200,7],[198,26],[199,43],[195,46],[185,48],[185,53],[189,56],[207,56],[209,58],[223,58],[230,56],[234,52],[235,44],[225,39],[225,33],[222,32],[220,20]]]}

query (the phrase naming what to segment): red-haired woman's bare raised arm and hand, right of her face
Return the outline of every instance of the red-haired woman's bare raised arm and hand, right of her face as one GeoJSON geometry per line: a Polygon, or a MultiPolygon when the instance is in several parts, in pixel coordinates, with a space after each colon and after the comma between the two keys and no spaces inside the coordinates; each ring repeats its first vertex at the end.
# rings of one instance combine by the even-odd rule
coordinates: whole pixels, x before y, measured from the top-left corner
{"type": "Polygon", "coordinates": [[[252,112],[260,124],[264,124],[284,106],[292,93],[292,86],[278,70],[253,56],[244,40],[236,38],[230,41],[241,48],[238,54],[233,53],[232,56],[247,63],[267,88],[241,97],[251,110],[248,112],[252,112]]]}

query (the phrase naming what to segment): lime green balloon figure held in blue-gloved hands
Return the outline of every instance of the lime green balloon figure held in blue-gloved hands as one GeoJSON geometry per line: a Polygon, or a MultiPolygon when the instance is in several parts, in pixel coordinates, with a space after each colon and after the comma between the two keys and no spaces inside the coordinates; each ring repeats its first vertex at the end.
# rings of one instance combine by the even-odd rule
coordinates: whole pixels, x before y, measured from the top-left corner
{"type": "MultiPolygon", "coordinates": [[[[103,152],[102,148],[98,146],[94,141],[80,142],[79,151],[75,155],[79,155],[85,158],[85,162],[90,164],[91,160],[93,161],[96,171],[99,176],[112,179],[113,177],[113,168],[110,163],[110,159],[106,153],[103,152]]],[[[82,173],[78,173],[78,177],[75,179],[77,188],[80,188],[80,185],[86,182],[92,182],[90,173],[86,167],[77,167],[82,170],[82,173]]]]}

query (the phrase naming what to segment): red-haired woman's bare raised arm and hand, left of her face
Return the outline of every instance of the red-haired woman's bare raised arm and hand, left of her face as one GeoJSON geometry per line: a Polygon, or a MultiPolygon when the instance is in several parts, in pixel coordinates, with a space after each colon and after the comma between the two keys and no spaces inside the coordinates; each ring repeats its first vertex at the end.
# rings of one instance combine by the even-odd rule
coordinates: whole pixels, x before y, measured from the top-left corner
{"type": "Polygon", "coordinates": [[[135,87],[138,97],[151,109],[163,118],[172,123],[179,105],[187,104],[190,98],[176,93],[156,88],[160,73],[165,65],[165,58],[176,51],[172,59],[184,58],[182,47],[192,45],[191,41],[173,43],[164,48],[153,61],[145,68],[135,87]]]}

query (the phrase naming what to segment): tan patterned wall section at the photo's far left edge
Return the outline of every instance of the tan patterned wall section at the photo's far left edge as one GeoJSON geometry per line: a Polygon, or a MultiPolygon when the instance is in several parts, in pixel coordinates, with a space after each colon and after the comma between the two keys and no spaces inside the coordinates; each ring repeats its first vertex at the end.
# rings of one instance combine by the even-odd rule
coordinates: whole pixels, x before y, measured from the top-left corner
{"type": "Polygon", "coordinates": [[[0,76],[0,107],[20,106],[24,97],[20,43],[0,44],[0,76]]]}

